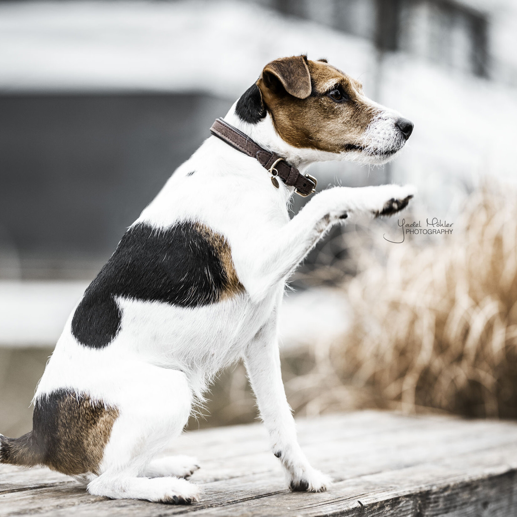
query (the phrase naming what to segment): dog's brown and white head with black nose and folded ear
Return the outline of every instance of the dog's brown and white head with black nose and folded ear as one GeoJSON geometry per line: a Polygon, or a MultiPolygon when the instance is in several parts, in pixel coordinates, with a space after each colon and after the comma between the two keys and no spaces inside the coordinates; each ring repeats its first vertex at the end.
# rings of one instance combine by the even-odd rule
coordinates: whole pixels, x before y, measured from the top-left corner
{"type": "Polygon", "coordinates": [[[307,149],[362,163],[390,160],[413,131],[409,120],[366,97],[360,82],[307,56],[268,63],[235,113],[248,124],[270,115],[278,136],[300,155],[307,149]]]}

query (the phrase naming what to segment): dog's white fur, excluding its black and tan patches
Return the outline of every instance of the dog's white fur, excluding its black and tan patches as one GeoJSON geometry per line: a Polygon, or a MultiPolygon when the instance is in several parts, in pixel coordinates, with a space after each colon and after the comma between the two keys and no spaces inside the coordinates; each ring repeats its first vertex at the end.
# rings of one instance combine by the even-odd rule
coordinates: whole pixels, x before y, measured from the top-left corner
{"type": "MultiPolygon", "coordinates": [[[[300,170],[315,161],[357,158],[358,153],[294,148],[279,138],[269,115],[252,126],[242,123],[232,108],[226,120],[300,170]]],[[[390,140],[393,120],[391,114],[379,115],[365,136],[371,145],[390,140]]],[[[363,153],[362,158],[371,157],[363,153]]],[[[196,500],[195,485],[169,477],[186,477],[195,464],[155,458],[181,433],[193,400],[202,398],[210,379],[239,358],[245,360],[272,451],[281,453],[288,481],[307,484],[313,492],[326,490],[330,478],[313,469],[298,446],[282,385],[277,313],[285,281],[345,213],[349,219],[371,216],[388,200],[414,192],[396,185],[331,188],[314,195],[290,220],[287,204],[293,188],[283,183],[274,188],[256,160],[214,136],[206,140],[136,222],[157,229],[187,219],[207,224],[229,242],[245,292],[198,308],[118,298],[121,330],[103,349],[80,345],[72,335],[70,316],[35,397],[70,388],[118,408],[100,476],[86,476],[88,491],[113,498],[196,500]],[[196,172],[187,176],[191,171],[196,172]]]]}

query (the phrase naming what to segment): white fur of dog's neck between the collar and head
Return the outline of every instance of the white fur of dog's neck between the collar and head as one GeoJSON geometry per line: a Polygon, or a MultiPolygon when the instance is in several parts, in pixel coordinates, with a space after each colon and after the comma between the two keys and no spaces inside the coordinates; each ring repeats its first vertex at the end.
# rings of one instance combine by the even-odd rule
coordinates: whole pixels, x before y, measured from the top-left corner
{"type": "Polygon", "coordinates": [[[282,140],[273,126],[269,113],[257,124],[248,124],[235,113],[235,104],[225,115],[224,120],[248,135],[264,149],[284,158],[287,163],[294,165],[300,173],[307,172],[312,163],[321,161],[317,156],[313,156],[314,153],[307,153],[307,149],[297,149],[282,140]]]}

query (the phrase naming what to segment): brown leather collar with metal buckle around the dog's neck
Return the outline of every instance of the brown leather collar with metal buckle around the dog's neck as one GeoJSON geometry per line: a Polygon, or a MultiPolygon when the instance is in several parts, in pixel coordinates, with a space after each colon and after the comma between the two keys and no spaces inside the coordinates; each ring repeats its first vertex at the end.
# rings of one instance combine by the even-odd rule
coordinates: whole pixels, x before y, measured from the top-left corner
{"type": "MultiPolygon", "coordinates": [[[[241,153],[256,158],[258,163],[268,170],[272,179],[278,176],[285,185],[294,187],[294,191],[297,194],[306,197],[315,191],[316,178],[309,174],[305,176],[300,174],[296,167],[288,164],[281,156],[266,151],[266,149],[253,142],[249,136],[234,128],[222,118],[218,118],[212,124],[210,131],[214,136],[230,144],[235,149],[241,151],[241,153]]],[[[273,185],[275,185],[275,181],[273,180],[273,185]]],[[[278,188],[278,181],[276,183],[275,186],[278,188]]]]}

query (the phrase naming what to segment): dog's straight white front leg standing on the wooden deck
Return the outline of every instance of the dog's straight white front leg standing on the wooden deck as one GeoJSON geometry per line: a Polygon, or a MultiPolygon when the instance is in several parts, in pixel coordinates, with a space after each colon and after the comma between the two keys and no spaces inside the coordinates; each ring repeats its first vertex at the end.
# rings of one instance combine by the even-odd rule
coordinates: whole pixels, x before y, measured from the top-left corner
{"type": "Polygon", "coordinates": [[[324,492],[331,480],[311,467],[298,445],[291,408],[285,398],[276,332],[276,316],[257,333],[245,352],[245,364],[258,409],[282,462],[292,491],[324,492]]]}

